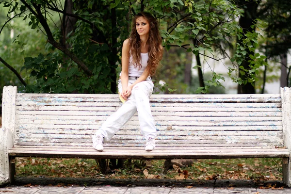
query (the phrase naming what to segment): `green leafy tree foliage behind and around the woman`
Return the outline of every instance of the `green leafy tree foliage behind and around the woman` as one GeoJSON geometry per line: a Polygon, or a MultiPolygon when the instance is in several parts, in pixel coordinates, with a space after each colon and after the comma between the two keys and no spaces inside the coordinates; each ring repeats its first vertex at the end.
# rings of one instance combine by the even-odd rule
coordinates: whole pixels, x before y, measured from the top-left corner
{"type": "MultiPolygon", "coordinates": [[[[39,47],[46,51],[34,53],[38,57],[30,54],[25,56],[22,75],[27,73],[25,77],[31,80],[27,92],[112,93],[111,85],[119,73],[115,73],[115,69],[121,64],[121,47],[129,35],[130,20],[134,13],[141,10],[148,11],[159,19],[165,49],[181,47],[184,52],[204,55],[205,60],[212,60],[216,53],[220,53],[222,58],[214,60],[230,58],[233,67],[229,68],[229,76],[239,84],[254,82],[258,68],[263,65],[263,57],[257,54],[250,55],[247,59],[244,57],[258,47],[259,34],[243,34],[236,21],[242,15],[242,9],[231,0],[74,1],[73,14],[82,19],[78,19],[73,31],[66,35],[63,42],[64,32],[61,31],[61,25],[64,21],[57,21],[56,18],[62,18],[64,1],[59,3],[56,0],[27,0],[26,3],[10,0],[3,5],[9,8],[7,13],[15,13],[17,17],[27,20],[26,26],[31,29],[31,33],[40,31],[47,35],[50,43],[52,38],[60,44],[65,43],[65,51],[70,53],[64,54],[64,49],[61,51],[62,49],[49,44],[44,48],[43,44],[39,47]],[[48,22],[49,29],[42,16],[48,22]],[[53,37],[49,36],[50,32],[53,37]],[[237,36],[240,38],[236,42],[234,40],[237,36]],[[236,53],[232,56],[230,53],[235,45],[236,53]],[[226,50],[230,53],[226,53],[226,50]],[[251,69],[235,67],[243,60],[250,61],[251,69]],[[81,63],[92,75],[84,72],[81,63]],[[245,79],[236,78],[232,72],[247,76],[245,79]]],[[[16,41],[18,43],[21,42],[16,41]]],[[[18,46],[23,47],[24,44],[18,46]]],[[[168,66],[167,68],[169,69],[168,66]]],[[[183,68],[170,68],[170,71],[176,69],[176,72],[170,73],[178,72],[183,75],[183,68]]],[[[169,88],[167,92],[190,91],[189,86],[183,83],[183,76],[178,74],[174,76],[178,80],[166,81],[171,88],[175,88],[169,88]]],[[[210,87],[222,86],[221,80],[224,81],[223,75],[212,72],[210,79],[205,80],[205,88],[197,86],[198,90],[196,88],[195,91],[208,93],[210,87]]]]}

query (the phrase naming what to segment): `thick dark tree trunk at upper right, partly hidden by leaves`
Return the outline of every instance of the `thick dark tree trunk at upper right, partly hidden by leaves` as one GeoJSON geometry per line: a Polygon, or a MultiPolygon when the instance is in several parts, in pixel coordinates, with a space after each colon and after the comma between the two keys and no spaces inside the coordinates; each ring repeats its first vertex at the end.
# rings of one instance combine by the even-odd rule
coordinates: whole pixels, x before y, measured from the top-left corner
{"type": "MultiPolygon", "coordinates": [[[[238,6],[243,7],[244,9],[244,15],[241,16],[239,25],[243,29],[243,33],[246,34],[247,32],[252,32],[255,29],[252,28],[254,23],[256,22],[255,19],[257,19],[257,9],[260,1],[256,0],[239,0],[238,1],[238,6]]],[[[239,40],[238,40],[239,41],[239,40]]],[[[242,66],[244,69],[251,69],[250,63],[248,62],[250,60],[249,55],[254,54],[252,52],[249,52],[245,56],[245,60],[242,61],[242,66]]],[[[239,73],[240,78],[242,80],[247,79],[246,76],[242,75],[239,73]]],[[[254,83],[255,85],[255,83],[254,83]]],[[[246,83],[245,85],[239,85],[238,86],[238,94],[255,94],[255,86],[252,85],[251,83],[246,83]]]]}

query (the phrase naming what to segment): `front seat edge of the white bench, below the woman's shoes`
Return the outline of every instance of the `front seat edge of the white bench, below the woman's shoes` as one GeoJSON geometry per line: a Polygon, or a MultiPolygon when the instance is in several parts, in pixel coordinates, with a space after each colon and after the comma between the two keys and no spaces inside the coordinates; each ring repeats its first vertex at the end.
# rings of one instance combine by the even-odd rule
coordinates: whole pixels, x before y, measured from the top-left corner
{"type": "Polygon", "coordinates": [[[281,157],[281,158],[288,158],[289,157],[289,150],[288,149],[280,149],[276,151],[264,151],[264,152],[203,152],[203,153],[197,153],[197,152],[186,152],[186,153],[180,153],[177,151],[174,152],[146,152],[145,150],[140,152],[119,152],[111,150],[103,151],[103,152],[97,152],[95,150],[89,151],[42,151],[42,150],[9,150],[9,155],[14,156],[17,155],[19,157],[69,157],[69,158],[145,158],[145,159],[208,159],[208,158],[266,158],[266,157],[281,157]],[[103,157],[102,157],[103,156],[103,157]]]}

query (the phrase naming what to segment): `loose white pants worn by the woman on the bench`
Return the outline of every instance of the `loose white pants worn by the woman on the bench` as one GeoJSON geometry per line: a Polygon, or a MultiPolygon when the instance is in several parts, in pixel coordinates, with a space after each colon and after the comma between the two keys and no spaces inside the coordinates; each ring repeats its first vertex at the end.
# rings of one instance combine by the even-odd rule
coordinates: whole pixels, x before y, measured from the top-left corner
{"type": "MultiPolygon", "coordinates": [[[[129,85],[135,81],[135,78],[129,78],[129,85]]],[[[157,130],[154,124],[154,118],[150,112],[149,97],[153,92],[154,84],[150,78],[146,81],[137,83],[131,91],[128,100],[112,115],[110,115],[97,130],[97,135],[102,135],[105,141],[110,140],[113,135],[124,126],[136,111],[143,136],[154,138],[157,136],[157,130]]],[[[122,85],[118,81],[118,91],[121,94],[122,85]]]]}

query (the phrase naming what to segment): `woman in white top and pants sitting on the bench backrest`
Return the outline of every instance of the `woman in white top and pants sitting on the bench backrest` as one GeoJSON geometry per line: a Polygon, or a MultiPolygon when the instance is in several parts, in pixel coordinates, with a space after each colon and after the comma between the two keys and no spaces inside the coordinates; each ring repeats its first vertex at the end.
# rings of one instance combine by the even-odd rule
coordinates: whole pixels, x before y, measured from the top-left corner
{"type": "Polygon", "coordinates": [[[151,76],[162,60],[162,39],[159,23],[149,13],[140,12],[132,20],[129,39],[123,42],[122,70],[118,81],[119,97],[125,103],[103,123],[93,136],[93,147],[103,151],[108,141],[138,111],[146,151],[155,148],[156,128],[150,112],[149,97],[154,84],[151,76]]]}

